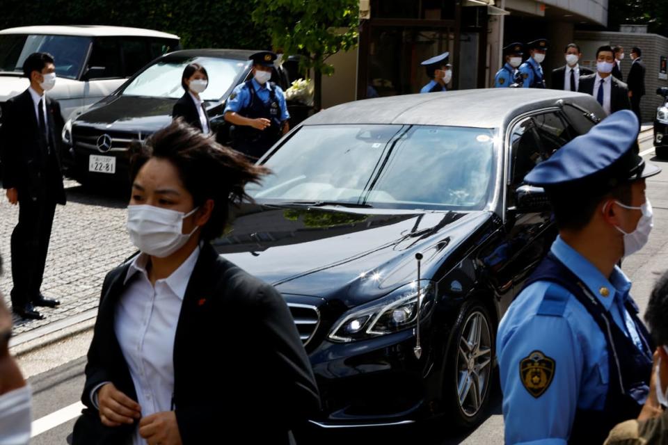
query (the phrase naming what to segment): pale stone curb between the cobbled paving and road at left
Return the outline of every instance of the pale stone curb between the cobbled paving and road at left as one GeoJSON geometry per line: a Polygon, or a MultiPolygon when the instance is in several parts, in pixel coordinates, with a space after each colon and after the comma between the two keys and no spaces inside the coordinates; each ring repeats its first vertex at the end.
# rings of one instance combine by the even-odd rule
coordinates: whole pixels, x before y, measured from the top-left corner
{"type": "Polygon", "coordinates": [[[9,350],[11,355],[19,357],[45,346],[61,341],[67,337],[72,337],[81,332],[93,329],[95,318],[97,317],[97,307],[88,309],[71,317],[63,318],[54,323],[38,327],[37,329],[12,337],[9,341],[9,350]]]}

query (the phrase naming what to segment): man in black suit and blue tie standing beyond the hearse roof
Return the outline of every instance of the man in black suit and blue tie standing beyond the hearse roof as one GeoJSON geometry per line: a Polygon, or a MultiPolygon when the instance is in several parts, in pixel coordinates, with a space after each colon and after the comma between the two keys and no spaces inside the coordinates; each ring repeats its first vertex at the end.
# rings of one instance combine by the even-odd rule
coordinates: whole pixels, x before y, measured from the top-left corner
{"type": "Polygon", "coordinates": [[[586,92],[596,98],[608,115],[619,110],[630,110],[626,83],[611,75],[614,53],[610,45],[596,51],[596,74],[580,77],[579,92],[586,92]]]}

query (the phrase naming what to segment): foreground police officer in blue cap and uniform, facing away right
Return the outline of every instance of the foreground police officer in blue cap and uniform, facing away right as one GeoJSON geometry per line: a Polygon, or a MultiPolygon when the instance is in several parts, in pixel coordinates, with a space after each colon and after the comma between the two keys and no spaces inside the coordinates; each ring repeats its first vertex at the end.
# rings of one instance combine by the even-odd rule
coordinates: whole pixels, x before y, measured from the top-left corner
{"type": "Polygon", "coordinates": [[[601,444],[649,394],[646,328],[616,264],[646,243],[652,211],[637,118],[613,113],[525,177],[545,188],[559,236],[498,329],[507,444],[601,444]]]}

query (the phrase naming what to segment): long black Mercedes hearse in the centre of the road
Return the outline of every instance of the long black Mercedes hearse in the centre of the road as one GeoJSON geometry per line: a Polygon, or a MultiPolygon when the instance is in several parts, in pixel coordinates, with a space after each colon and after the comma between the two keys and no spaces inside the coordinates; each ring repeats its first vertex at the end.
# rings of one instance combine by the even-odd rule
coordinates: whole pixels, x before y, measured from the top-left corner
{"type": "Polygon", "coordinates": [[[285,297],[321,391],[313,425],[481,420],[497,325],[556,235],[523,177],[597,115],[557,90],[368,99],[258,161],[273,173],[216,248],[285,297]]]}

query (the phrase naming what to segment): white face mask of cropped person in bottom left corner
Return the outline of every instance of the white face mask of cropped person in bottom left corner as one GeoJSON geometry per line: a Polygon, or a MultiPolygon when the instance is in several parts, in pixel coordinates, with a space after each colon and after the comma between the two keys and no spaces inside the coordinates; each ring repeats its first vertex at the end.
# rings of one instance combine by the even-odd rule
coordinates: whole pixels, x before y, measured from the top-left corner
{"type": "Polygon", "coordinates": [[[30,387],[14,389],[0,396],[0,445],[30,441],[30,387]]]}

